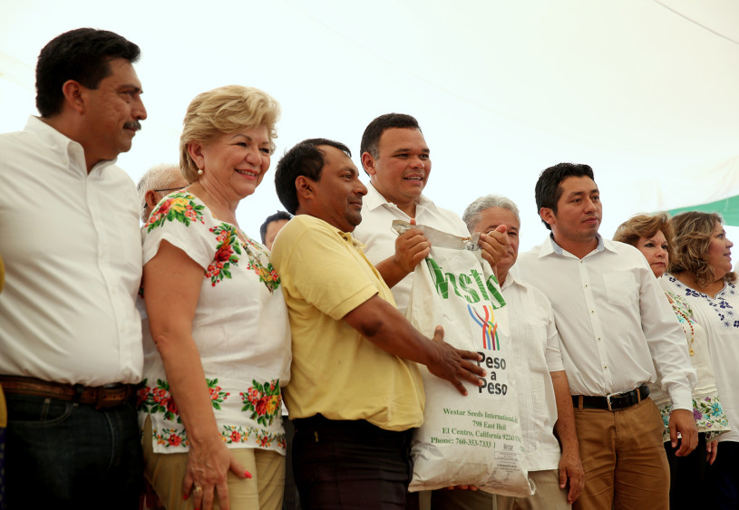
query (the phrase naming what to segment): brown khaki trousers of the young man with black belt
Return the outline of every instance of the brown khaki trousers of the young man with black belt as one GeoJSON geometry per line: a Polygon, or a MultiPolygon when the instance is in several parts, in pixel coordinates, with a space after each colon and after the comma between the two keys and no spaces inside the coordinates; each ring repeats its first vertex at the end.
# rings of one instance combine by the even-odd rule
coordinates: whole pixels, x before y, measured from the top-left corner
{"type": "Polygon", "coordinates": [[[670,473],[652,399],[627,409],[575,408],[585,488],[575,510],[668,510],[670,473]]]}

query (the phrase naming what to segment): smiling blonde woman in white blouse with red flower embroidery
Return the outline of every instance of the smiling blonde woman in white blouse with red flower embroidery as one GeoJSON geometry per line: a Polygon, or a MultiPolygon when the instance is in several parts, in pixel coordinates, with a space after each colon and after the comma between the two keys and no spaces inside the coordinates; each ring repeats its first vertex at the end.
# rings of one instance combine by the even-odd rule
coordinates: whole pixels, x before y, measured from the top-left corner
{"type": "Polygon", "coordinates": [[[139,417],[145,475],[167,508],[281,505],[287,308],[267,248],[236,218],[267,173],[278,115],[257,89],[196,97],[180,138],[190,186],[143,227],[139,417]]]}

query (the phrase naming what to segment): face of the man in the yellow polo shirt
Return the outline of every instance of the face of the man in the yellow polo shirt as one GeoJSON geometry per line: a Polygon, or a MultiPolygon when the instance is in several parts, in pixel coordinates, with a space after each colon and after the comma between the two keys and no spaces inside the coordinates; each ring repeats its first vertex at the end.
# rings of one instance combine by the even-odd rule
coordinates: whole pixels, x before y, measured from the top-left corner
{"type": "Polygon", "coordinates": [[[367,188],[359,180],[359,170],[344,151],[330,145],[317,146],[324,153],[321,178],[311,180],[311,213],[342,232],[353,232],[362,222],[362,197],[367,188]]]}

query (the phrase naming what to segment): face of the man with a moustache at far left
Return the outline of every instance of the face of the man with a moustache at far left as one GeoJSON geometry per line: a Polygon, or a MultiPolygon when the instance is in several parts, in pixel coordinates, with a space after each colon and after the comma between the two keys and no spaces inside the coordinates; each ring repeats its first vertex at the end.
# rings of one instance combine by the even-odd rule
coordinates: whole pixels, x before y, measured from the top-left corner
{"type": "Polygon", "coordinates": [[[140,120],[146,119],[141,101],[141,82],[129,61],[123,58],[108,63],[111,74],[97,89],[81,86],[84,104],[83,133],[80,142],[85,157],[97,162],[115,159],[131,149],[140,120]]]}

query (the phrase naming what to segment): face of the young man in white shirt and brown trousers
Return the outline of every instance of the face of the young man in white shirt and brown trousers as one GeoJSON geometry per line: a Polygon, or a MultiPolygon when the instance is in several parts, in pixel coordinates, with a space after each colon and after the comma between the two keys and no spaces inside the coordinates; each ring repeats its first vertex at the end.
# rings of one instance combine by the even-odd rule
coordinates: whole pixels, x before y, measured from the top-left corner
{"type": "Polygon", "coordinates": [[[557,201],[557,212],[549,207],[540,210],[541,219],[551,227],[555,242],[565,249],[571,245],[597,243],[603,207],[595,181],[570,176],[559,183],[559,187],[562,195],[557,201]]]}

